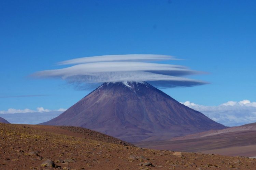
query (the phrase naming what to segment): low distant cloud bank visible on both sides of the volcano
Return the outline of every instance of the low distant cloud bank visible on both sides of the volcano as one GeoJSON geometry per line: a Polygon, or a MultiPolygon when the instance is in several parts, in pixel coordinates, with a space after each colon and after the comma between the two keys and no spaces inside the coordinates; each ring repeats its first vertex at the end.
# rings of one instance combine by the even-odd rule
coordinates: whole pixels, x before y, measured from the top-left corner
{"type": "MultiPolygon", "coordinates": [[[[256,102],[250,100],[228,101],[218,106],[199,105],[190,101],[180,103],[226,126],[239,126],[256,122],[256,102]]],[[[37,110],[10,108],[7,111],[0,111],[0,117],[10,123],[38,124],[51,120],[66,110],[64,108],[50,110],[43,107],[38,107],[37,110]]]]}

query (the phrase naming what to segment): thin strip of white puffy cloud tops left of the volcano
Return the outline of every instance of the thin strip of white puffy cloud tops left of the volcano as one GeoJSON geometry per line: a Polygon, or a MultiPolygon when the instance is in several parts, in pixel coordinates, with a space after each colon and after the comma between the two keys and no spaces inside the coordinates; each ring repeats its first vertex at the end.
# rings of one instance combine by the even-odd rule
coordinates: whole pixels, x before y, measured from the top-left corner
{"type": "Polygon", "coordinates": [[[37,107],[37,110],[32,109],[15,109],[15,108],[9,108],[7,111],[0,111],[0,114],[16,114],[16,113],[42,113],[42,112],[65,112],[67,109],[65,108],[59,108],[56,110],[50,110],[50,109],[44,109],[43,107],[37,107]]]}

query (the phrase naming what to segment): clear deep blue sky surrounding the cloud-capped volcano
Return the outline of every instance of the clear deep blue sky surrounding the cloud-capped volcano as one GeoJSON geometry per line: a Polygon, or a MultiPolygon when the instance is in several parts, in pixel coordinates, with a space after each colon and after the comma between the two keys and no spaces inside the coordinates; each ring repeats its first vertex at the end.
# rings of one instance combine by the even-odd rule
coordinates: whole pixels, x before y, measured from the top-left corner
{"type": "Polygon", "coordinates": [[[256,1],[0,0],[0,110],[70,107],[89,91],[28,75],[107,54],[173,55],[210,72],[190,77],[210,85],[163,90],[178,101],[256,101],[256,1]]]}

